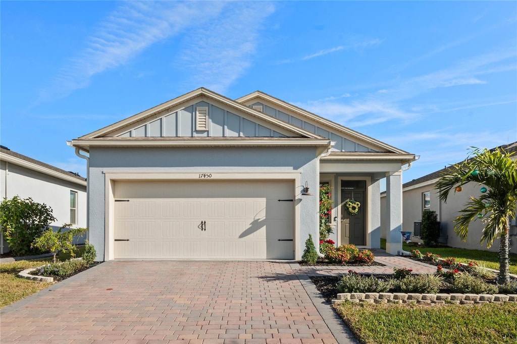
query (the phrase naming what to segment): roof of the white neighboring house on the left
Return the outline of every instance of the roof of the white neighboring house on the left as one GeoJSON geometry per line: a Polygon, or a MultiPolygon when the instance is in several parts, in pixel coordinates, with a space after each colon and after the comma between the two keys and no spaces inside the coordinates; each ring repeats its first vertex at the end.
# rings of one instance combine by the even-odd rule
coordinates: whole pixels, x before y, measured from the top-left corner
{"type": "Polygon", "coordinates": [[[14,152],[5,147],[0,147],[0,160],[86,186],[86,178],[81,177],[79,174],[45,164],[44,162],[29,158],[26,155],[14,152]]]}

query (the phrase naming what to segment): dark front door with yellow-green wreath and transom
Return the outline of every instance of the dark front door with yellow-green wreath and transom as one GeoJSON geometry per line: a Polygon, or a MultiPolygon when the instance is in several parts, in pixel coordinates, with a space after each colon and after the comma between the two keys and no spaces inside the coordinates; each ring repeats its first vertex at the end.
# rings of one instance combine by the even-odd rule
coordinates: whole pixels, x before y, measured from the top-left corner
{"type": "Polygon", "coordinates": [[[341,181],[341,244],[366,245],[366,181],[341,181]],[[348,201],[359,202],[357,214],[346,208],[348,201]]]}

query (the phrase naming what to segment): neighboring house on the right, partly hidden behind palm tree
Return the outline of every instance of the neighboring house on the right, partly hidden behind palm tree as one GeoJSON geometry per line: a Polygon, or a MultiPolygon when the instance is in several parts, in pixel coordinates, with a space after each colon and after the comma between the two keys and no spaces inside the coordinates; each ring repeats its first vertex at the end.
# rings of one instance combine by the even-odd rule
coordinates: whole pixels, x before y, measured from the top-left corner
{"type": "MultiPolygon", "coordinates": [[[[509,152],[517,152],[517,142],[509,145],[503,145],[498,148],[505,149],[509,152]]],[[[513,156],[517,158],[517,155],[513,156]]],[[[467,240],[463,241],[454,232],[453,221],[458,216],[458,212],[464,209],[466,202],[470,196],[478,197],[481,195],[479,191],[480,185],[476,183],[468,183],[463,185],[461,192],[452,192],[447,203],[440,201],[438,191],[435,185],[440,175],[447,169],[443,168],[429,175],[414,179],[402,185],[403,191],[403,228],[405,231],[412,231],[412,241],[422,242],[420,240],[420,220],[424,210],[433,210],[438,215],[440,222],[440,239],[439,241],[451,247],[468,248],[468,249],[486,249],[486,245],[480,245],[483,223],[480,220],[472,222],[469,226],[467,240]]],[[[384,203],[384,196],[382,203],[384,203]]],[[[383,227],[383,237],[385,228],[383,227]]],[[[498,240],[494,241],[489,251],[498,252],[498,240]]],[[[517,253],[517,227],[515,221],[510,226],[510,252],[517,253]]]]}

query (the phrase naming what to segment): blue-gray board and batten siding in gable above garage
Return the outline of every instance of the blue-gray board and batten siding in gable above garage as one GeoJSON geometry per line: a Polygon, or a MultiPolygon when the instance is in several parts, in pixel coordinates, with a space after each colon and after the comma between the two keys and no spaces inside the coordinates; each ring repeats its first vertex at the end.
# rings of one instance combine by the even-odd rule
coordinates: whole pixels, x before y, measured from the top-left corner
{"type": "Polygon", "coordinates": [[[166,114],[119,137],[285,137],[205,101],[166,114]],[[208,130],[196,130],[196,108],[208,107],[208,130]]]}

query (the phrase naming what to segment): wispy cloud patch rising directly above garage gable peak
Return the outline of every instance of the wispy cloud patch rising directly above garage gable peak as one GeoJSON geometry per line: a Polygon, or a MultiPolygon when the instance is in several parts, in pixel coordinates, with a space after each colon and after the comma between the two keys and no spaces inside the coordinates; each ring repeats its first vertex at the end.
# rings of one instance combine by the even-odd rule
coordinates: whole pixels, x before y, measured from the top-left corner
{"type": "Polygon", "coordinates": [[[187,87],[224,93],[251,66],[270,2],[230,2],[220,18],[196,25],[186,36],[180,68],[193,71],[187,87]]]}

